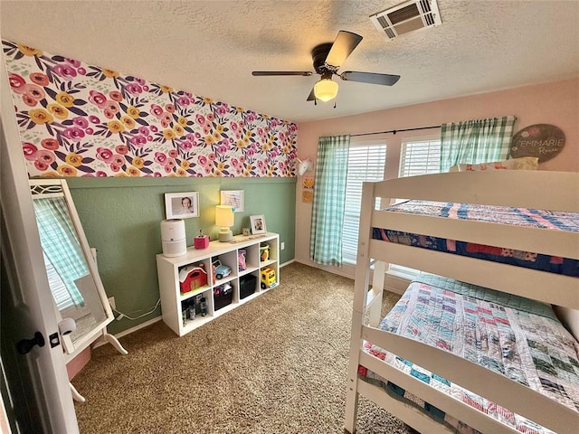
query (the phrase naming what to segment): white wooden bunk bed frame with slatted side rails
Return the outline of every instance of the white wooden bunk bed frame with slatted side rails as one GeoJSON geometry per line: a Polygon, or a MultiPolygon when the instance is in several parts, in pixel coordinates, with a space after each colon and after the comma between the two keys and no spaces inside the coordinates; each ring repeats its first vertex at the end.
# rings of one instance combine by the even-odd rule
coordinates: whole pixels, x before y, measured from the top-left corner
{"type": "MultiPolygon", "coordinates": [[[[579,432],[579,410],[576,403],[574,408],[570,408],[510,380],[505,375],[444,349],[377,328],[381,322],[384,272],[388,263],[421,269],[502,293],[552,304],[558,309],[557,316],[574,335],[574,339],[579,339],[579,278],[372,238],[373,228],[388,228],[579,259],[579,232],[378,211],[375,210],[376,198],[382,198],[383,206],[388,206],[394,199],[416,199],[578,212],[579,221],[579,174],[508,170],[460,172],[364,184],[347,378],[346,431],[356,432],[357,401],[361,395],[375,401],[422,433],[456,432],[440,420],[432,419],[416,406],[384,392],[382,387],[365,382],[358,375],[358,368],[363,366],[384,381],[412,393],[480,432],[520,432],[368,354],[364,345],[369,342],[387,353],[395,354],[452,383],[460,384],[468,391],[514,411],[546,429],[561,434],[579,432]]],[[[579,346],[575,345],[573,337],[570,338],[576,354],[579,346]]]]}

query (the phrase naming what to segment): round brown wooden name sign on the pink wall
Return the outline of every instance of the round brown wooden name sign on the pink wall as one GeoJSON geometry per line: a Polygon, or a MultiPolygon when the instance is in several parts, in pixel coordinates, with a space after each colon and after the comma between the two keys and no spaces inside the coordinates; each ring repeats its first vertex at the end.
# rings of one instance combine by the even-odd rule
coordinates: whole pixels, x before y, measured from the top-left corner
{"type": "Polygon", "coordinates": [[[549,124],[525,127],[513,136],[510,156],[537,156],[539,163],[550,160],[563,150],[565,134],[561,128],[549,124]]]}

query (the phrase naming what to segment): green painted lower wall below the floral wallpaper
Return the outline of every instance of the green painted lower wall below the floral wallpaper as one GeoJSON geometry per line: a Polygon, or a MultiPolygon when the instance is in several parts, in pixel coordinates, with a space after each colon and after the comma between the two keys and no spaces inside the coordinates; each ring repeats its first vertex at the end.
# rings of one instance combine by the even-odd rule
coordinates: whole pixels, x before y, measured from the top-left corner
{"type": "MultiPolygon", "coordinates": [[[[185,219],[187,246],[202,229],[211,240],[219,228],[214,205],[220,190],[243,190],[245,211],[235,213],[233,234],[264,214],[268,231],[280,233],[280,263],[295,257],[296,178],[70,178],[72,198],[90,247],[98,251],[100,278],[117,308],[139,316],[159,298],[156,255],[162,252],[160,222],[165,193],[199,192],[200,217],[185,219]]],[[[160,315],[160,307],[137,321],[109,325],[117,334],[160,315]]]]}

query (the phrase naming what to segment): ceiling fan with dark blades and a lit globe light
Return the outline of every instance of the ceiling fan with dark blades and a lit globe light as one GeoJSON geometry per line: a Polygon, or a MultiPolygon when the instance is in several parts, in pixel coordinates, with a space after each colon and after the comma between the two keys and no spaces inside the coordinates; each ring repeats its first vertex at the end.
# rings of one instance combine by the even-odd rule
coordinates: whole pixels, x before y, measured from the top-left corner
{"type": "Polygon", "coordinates": [[[308,101],[317,103],[318,99],[329,101],[337,96],[337,82],[332,80],[332,76],[337,75],[346,81],[359,81],[362,83],[382,84],[392,86],[400,79],[399,75],[379,74],[375,72],[346,71],[337,73],[340,66],[347,57],[354,51],[357,44],[362,41],[362,36],[356,33],[340,30],[334,42],[321,43],[311,51],[314,70],[312,71],[252,71],[254,76],[275,76],[275,75],[301,75],[309,77],[317,73],[321,79],[316,82],[314,88],[309,92],[308,101]]]}

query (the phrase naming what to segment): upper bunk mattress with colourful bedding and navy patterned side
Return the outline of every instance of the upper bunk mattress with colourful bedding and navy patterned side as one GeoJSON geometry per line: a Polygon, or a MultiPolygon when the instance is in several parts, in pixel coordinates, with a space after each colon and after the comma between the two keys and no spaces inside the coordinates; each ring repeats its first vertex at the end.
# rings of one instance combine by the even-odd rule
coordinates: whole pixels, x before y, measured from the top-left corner
{"type": "MultiPolygon", "coordinates": [[[[544,228],[552,231],[579,231],[579,215],[576,212],[550,212],[506,206],[416,200],[397,203],[384,211],[503,223],[544,228]]],[[[375,240],[396,242],[470,258],[492,260],[528,269],[539,269],[541,271],[579,277],[579,260],[577,259],[506,249],[500,246],[486,246],[473,242],[447,240],[416,233],[392,231],[387,228],[373,228],[372,236],[375,240]]]]}

